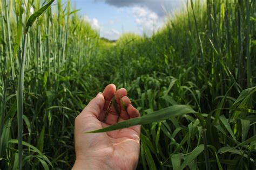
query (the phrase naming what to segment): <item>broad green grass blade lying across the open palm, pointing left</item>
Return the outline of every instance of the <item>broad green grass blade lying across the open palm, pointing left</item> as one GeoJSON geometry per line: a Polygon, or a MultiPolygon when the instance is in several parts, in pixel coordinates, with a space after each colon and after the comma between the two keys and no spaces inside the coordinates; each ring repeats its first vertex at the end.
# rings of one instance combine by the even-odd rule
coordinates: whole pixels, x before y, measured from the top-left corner
{"type": "Polygon", "coordinates": [[[171,107],[152,112],[151,114],[147,114],[142,117],[132,118],[127,121],[114,124],[104,129],[98,129],[95,131],[90,131],[85,133],[99,133],[99,132],[107,132],[112,130],[124,129],[134,125],[142,125],[142,124],[149,124],[153,122],[164,121],[172,117],[181,116],[189,113],[196,113],[196,111],[194,111],[188,105],[173,105],[171,107]]]}

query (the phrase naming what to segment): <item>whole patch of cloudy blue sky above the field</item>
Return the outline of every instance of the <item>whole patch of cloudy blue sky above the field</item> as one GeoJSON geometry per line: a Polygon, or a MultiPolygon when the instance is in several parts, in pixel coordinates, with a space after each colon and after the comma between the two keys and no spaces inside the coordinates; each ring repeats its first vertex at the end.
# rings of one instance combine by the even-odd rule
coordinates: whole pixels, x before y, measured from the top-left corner
{"type": "Polygon", "coordinates": [[[79,15],[99,31],[100,36],[116,40],[126,32],[151,36],[184,4],[181,0],[71,0],[79,15]]]}

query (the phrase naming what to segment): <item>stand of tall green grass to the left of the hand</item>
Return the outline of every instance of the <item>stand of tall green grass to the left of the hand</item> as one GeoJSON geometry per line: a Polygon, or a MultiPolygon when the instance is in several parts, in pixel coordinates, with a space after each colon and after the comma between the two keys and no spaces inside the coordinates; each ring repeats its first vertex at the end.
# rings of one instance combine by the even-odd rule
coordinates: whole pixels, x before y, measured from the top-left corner
{"type": "MultiPolygon", "coordinates": [[[[70,129],[73,127],[73,118],[90,99],[87,98],[90,95],[86,94],[85,97],[83,91],[95,87],[95,85],[87,84],[95,78],[86,71],[84,58],[96,50],[98,34],[91,29],[89,24],[77,16],[75,9],[71,10],[70,8],[64,11],[60,9],[60,6],[58,6],[59,9],[54,9],[56,5],[53,5],[53,10],[50,8],[39,18],[37,17],[43,11],[37,15],[35,15],[36,13],[32,15],[30,9],[40,11],[39,9],[45,4],[47,3],[42,1],[28,1],[28,3],[4,1],[0,3],[1,20],[3,21],[0,27],[3,35],[3,37],[1,36],[0,58],[1,66],[4,66],[1,67],[0,71],[0,148],[1,159],[4,160],[1,161],[1,168],[4,169],[17,168],[18,166],[20,169],[22,167],[26,169],[32,167],[49,168],[53,165],[55,167],[57,165],[59,167],[71,166],[73,159],[62,159],[66,155],[74,155],[73,151],[70,154],[66,152],[68,148],[73,146],[73,141],[70,140],[73,136],[73,133],[70,133],[70,129]],[[14,10],[10,12],[9,9],[14,10]],[[62,13],[63,16],[58,18],[57,13],[62,13]],[[54,24],[56,20],[59,20],[59,25],[54,24]],[[33,24],[34,21],[35,24],[33,24]],[[56,30],[64,34],[58,36],[56,30]],[[10,38],[6,36],[7,33],[10,38]],[[58,45],[55,43],[56,40],[59,42],[58,45]],[[68,44],[69,41],[72,44],[68,44]],[[11,48],[9,48],[9,42],[11,48]],[[77,44],[73,42],[77,42],[77,44]],[[83,44],[85,48],[87,47],[86,50],[85,48],[79,49],[79,51],[72,50],[80,44],[83,44]],[[84,65],[78,66],[79,53],[83,56],[80,62],[84,65]],[[10,56],[14,56],[14,58],[10,56]],[[17,86],[17,84],[19,85],[17,86]],[[72,86],[78,89],[71,89],[71,93],[69,88],[72,86]],[[58,100],[56,100],[57,98],[58,100]],[[73,106],[69,105],[72,101],[76,101],[75,105],[71,103],[73,106]],[[66,105],[69,105],[69,108],[66,105]],[[73,110],[76,111],[72,115],[65,112],[72,112],[73,110]],[[16,111],[18,111],[17,119],[14,116],[16,111]],[[61,121],[55,113],[62,118],[61,121]],[[57,126],[53,127],[52,124],[55,124],[56,121],[63,123],[59,122],[57,126]],[[60,131],[61,133],[59,133],[60,131]],[[64,143],[63,147],[56,147],[58,143],[64,143]],[[16,144],[19,145],[18,150],[16,144]],[[48,155],[46,157],[46,150],[47,153],[55,150],[55,156],[48,155]],[[50,159],[50,161],[50,157],[59,158],[50,159]],[[16,161],[18,158],[19,161],[16,161]],[[62,165],[57,163],[59,161],[62,165]],[[18,162],[23,162],[23,165],[18,162]]],[[[58,1],[58,4],[63,5],[61,1],[58,1]]],[[[97,81],[95,79],[94,82],[97,81]]],[[[92,95],[95,91],[92,91],[92,95]]]]}

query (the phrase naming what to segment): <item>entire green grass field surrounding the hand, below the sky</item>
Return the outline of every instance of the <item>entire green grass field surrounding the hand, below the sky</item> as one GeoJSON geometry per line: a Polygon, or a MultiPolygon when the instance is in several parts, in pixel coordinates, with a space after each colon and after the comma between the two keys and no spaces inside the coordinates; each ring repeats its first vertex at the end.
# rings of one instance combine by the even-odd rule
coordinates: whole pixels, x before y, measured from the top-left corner
{"type": "Polygon", "coordinates": [[[142,126],[138,169],[256,168],[255,0],[187,1],[152,37],[114,43],[70,1],[32,23],[47,3],[0,2],[0,169],[71,168],[74,119],[109,83],[142,116],[194,110],[142,126]]]}

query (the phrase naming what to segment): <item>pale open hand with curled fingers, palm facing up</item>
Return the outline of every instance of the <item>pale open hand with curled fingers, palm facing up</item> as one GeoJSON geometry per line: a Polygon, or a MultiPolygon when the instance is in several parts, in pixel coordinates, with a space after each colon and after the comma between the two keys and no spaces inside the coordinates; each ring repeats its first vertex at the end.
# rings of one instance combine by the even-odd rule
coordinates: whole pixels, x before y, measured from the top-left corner
{"type": "Polygon", "coordinates": [[[75,120],[76,161],[72,169],[135,169],[139,159],[140,125],[104,133],[85,133],[102,129],[126,119],[139,117],[139,111],[131,104],[124,88],[116,91],[109,84],[93,98],[75,120]],[[107,107],[116,93],[120,117],[111,105],[104,120],[107,107]],[[127,111],[120,104],[120,98],[127,111]]]}

